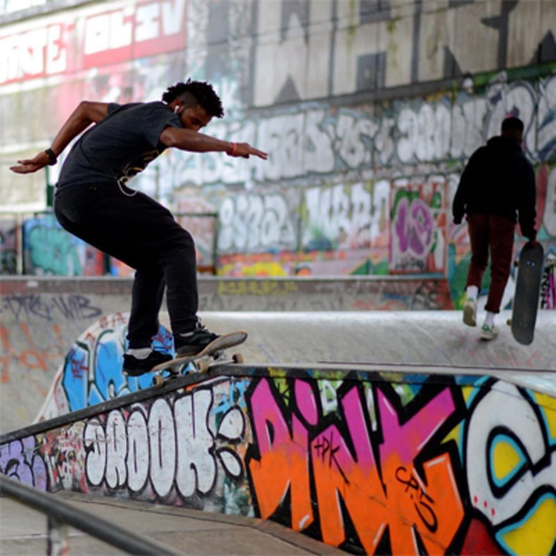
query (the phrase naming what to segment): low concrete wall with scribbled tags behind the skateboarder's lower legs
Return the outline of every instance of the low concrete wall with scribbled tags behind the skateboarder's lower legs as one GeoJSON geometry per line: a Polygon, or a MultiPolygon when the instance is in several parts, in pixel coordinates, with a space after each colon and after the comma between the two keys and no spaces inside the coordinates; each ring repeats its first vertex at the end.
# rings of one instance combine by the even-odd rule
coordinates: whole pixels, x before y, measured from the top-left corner
{"type": "MultiPolygon", "coordinates": [[[[130,304],[128,279],[2,277],[0,430],[31,423],[76,338],[101,319],[127,313],[130,304]]],[[[205,312],[405,311],[451,309],[452,302],[445,279],[222,278],[199,281],[199,306],[205,312]]],[[[120,331],[122,342],[125,335],[120,331]]]]}

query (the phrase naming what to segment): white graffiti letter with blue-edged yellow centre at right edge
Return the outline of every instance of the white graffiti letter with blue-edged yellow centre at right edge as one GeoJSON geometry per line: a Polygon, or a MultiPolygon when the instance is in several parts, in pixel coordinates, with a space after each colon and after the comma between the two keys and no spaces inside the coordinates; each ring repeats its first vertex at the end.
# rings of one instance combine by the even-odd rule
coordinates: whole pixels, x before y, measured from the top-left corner
{"type": "Polygon", "coordinates": [[[497,526],[523,518],[525,505],[556,489],[556,452],[547,452],[540,414],[513,384],[498,382],[468,424],[467,479],[473,506],[497,526]]]}

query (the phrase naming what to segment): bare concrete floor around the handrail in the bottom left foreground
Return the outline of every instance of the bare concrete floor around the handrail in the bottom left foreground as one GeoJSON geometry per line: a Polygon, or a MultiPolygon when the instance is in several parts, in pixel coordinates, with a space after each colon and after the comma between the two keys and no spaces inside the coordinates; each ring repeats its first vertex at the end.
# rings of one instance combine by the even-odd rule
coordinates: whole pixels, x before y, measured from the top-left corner
{"type": "MultiPolygon", "coordinates": [[[[92,498],[64,492],[56,496],[131,532],[163,543],[184,555],[334,555],[327,546],[277,523],[254,518],[206,514],[193,509],[149,505],[145,502],[92,498]]],[[[106,543],[70,528],[70,554],[124,554],[106,543]]],[[[0,554],[46,554],[47,522],[43,514],[0,498],[0,554]]]]}

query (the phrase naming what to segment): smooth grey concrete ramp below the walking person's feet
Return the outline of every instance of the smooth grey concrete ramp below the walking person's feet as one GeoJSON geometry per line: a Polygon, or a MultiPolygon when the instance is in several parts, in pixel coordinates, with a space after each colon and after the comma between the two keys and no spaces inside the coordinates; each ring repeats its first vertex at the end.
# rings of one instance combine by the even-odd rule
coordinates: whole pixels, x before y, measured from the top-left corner
{"type": "MultiPolygon", "coordinates": [[[[215,332],[245,329],[246,363],[386,363],[556,370],[556,311],[539,311],[531,345],[517,343],[500,313],[495,341],[467,327],[460,311],[202,313],[215,332]]],[[[480,317],[479,317],[480,318],[480,317]]],[[[164,319],[163,319],[164,320],[164,319]]]]}

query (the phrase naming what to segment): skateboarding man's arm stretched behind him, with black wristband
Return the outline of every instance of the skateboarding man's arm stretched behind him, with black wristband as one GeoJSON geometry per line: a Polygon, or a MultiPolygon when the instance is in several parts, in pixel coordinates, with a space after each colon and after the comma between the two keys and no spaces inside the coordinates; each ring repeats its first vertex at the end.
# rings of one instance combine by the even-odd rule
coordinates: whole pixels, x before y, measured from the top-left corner
{"type": "MultiPolygon", "coordinates": [[[[51,151],[54,153],[54,156],[58,158],[72,139],[85,131],[90,124],[96,124],[103,120],[107,114],[107,103],[81,101],[70,117],[67,118],[52,142],[51,151]]],[[[17,161],[17,166],[10,167],[10,170],[16,174],[30,174],[44,168],[49,163],[51,163],[50,156],[46,151],[42,151],[33,158],[17,161]]]]}

